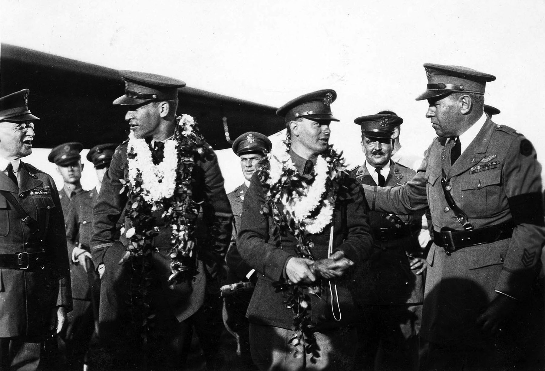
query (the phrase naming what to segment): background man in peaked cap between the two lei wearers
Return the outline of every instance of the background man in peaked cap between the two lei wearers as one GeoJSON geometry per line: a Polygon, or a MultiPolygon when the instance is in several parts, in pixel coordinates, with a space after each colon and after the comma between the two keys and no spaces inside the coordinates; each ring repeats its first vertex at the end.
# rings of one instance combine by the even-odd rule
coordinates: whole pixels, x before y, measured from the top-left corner
{"type": "MultiPolygon", "coordinates": [[[[272,143],[265,135],[257,132],[247,132],[233,142],[233,152],[240,157],[240,168],[244,175],[244,183],[227,195],[233,210],[233,236],[227,251],[228,266],[227,283],[255,281],[255,269],[252,269],[237,250],[237,234],[242,216],[244,194],[248,190],[252,175],[258,169],[258,164],[272,148],[272,143]]],[[[230,332],[237,337],[237,348],[240,349],[239,361],[233,367],[250,368],[253,366],[250,355],[249,322],[246,310],[252,298],[252,290],[248,290],[225,298],[227,319],[225,324],[230,332]]]]}

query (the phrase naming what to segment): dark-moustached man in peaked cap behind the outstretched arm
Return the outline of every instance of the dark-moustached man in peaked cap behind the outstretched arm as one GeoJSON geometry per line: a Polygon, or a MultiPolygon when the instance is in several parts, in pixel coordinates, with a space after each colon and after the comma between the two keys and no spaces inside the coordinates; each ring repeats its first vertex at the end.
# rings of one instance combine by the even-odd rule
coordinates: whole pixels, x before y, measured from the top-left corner
{"type": "MultiPolygon", "coordinates": [[[[361,126],[364,165],[352,170],[361,184],[377,187],[403,185],[416,174],[391,159],[395,128],[403,119],[391,111],[361,116],[354,120],[361,126]],[[387,112],[387,113],[385,113],[387,112]]],[[[419,332],[424,299],[423,272],[427,239],[423,246],[419,235],[429,237],[422,226],[423,211],[411,215],[368,212],[373,231],[373,255],[360,270],[356,294],[364,320],[358,327],[363,370],[417,370],[419,332]]]]}

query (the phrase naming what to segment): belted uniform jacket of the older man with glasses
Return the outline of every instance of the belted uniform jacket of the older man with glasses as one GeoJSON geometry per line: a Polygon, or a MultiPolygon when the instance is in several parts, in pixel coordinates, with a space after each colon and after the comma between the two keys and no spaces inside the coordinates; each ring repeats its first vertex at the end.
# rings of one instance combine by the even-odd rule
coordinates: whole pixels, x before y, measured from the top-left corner
{"type": "Polygon", "coordinates": [[[45,251],[44,268],[0,269],[0,337],[27,336],[45,339],[51,311],[72,308],[66,234],[59,195],[53,179],[21,161],[19,189],[0,172],[0,189],[15,196],[23,209],[38,222],[31,238],[21,215],[0,195],[0,253],[45,251]]]}

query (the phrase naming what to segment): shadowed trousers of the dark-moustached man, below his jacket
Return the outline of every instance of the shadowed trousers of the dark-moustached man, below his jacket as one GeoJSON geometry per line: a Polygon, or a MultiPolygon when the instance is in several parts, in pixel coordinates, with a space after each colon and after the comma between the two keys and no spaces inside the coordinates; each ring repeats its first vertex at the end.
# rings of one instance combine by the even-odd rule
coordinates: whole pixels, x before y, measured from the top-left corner
{"type": "Polygon", "coordinates": [[[358,324],[355,370],[419,368],[422,305],[371,305],[358,324]]]}

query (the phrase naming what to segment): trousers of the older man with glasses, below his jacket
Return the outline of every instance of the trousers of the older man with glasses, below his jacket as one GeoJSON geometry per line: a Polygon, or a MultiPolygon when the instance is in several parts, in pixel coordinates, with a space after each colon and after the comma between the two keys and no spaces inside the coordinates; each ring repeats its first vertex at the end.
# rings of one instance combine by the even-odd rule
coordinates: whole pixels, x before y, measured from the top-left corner
{"type": "Polygon", "coordinates": [[[43,370],[40,364],[41,343],[26,342],[25,337],[0,338],[0,370],[34,371],[43,370]]]}

